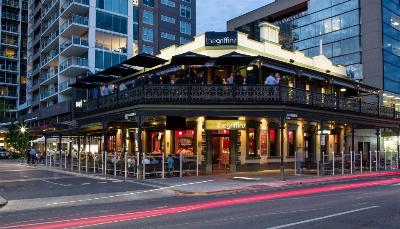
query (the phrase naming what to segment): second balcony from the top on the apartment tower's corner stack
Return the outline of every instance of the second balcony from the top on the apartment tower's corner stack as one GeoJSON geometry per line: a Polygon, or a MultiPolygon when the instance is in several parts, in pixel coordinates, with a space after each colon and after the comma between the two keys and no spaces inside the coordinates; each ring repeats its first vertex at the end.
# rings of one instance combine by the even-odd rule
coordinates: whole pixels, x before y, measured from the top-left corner
{"type": "Polygon", "coordinates": [[[89,30],[89,17],[80,15],[72,15],[67,21],[60,26],[60,35],[63,37],[72,37],[73,35],[81,35],[89,30]]]}

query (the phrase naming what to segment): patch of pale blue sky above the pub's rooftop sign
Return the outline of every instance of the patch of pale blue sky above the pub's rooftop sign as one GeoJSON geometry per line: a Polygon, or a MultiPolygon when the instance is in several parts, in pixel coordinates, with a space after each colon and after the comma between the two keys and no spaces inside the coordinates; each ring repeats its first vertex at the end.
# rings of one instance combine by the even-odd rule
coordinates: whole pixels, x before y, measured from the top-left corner
{"type": "Polygon", "coordinates": [[[197,34],[226,31],[226,22],[271,0],[197,0],[197,34]]]}

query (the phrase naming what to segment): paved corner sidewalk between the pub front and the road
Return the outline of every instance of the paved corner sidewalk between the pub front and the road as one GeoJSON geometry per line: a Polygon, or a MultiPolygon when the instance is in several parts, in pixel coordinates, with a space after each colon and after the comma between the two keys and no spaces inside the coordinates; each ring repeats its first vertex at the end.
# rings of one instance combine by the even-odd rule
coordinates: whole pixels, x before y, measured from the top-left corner
{"type": "Polygon", "coordinates": [[[400,175],[400,172],[374,172],[363,174],[345,174],[337,176],[286,176],[286,180],[279,179],[279,171],[263,171],[253,173],[221,174],[200,177],[174,177],[167,179],[145,180],[144,182],[155,183],[171,187],[177,194],[181,195],[207,195],[235,193],[257,189],[279,188],[292,185],[333,182],[349,179],[360,179],[379,176],[400,175]],[[204,181],[203,183],[195,183],[204,181]]]}

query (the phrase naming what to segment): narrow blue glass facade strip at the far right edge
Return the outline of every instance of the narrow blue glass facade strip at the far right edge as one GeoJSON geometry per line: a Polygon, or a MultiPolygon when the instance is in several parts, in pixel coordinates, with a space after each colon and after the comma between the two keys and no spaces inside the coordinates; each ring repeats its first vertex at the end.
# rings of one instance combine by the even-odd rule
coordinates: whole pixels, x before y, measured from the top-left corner
{"type": "Polygon", "coordinates": [[[384,90],[400,94],[400,3],[382,0],[384,90]]]}

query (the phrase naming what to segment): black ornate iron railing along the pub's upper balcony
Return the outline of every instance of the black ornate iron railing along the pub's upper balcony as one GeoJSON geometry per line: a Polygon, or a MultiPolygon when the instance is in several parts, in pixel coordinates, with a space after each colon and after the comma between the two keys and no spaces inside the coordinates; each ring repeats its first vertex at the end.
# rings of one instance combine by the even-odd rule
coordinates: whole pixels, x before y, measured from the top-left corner
{"type": "Polygon", "coordinates": [[[356,98],[266,85],[143,85],[85,101],[82,107],[76,108],[76,112],[84,116],[137,104],[284,104],[392,119],[400,118],[394,108],[360,102],[356,98]]]}

